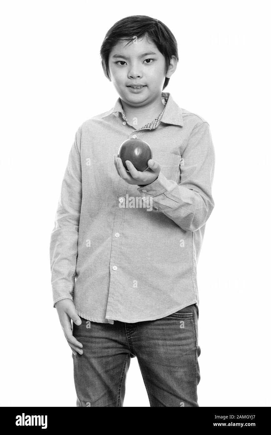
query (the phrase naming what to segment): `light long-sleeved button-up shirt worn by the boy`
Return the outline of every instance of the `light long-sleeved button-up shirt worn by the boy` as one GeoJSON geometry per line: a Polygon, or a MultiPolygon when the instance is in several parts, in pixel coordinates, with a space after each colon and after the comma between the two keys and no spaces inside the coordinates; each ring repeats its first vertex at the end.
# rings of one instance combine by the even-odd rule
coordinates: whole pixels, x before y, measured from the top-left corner
{"type": "Polygon", "coordinates": [[[210,126],[169,93],[159,120],[137,129],[121,100],[81,124],[69,152],[50,238],[53,307],[71,299],[100,323],[134,323],[198,308],[197,262],[215,206],[210,126]],[[113,154],[138,137],[161,166],[139,187],[117,174],[113,154]]]}

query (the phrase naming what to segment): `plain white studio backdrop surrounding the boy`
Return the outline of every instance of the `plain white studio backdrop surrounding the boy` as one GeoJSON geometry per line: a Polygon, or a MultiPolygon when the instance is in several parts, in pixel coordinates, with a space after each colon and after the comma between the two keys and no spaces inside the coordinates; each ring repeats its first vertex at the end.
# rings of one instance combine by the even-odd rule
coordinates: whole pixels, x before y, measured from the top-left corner
{"type": "MultiPolygon", "coordinates": [[[[208,121],[215,146],[198,261],[199,406],[271,406],[270,19],[267,1],[238,0],[2,3],[0,405],[76,406],[50,233],[77,128],[118,98],[102,40],[135,13],[172,30],[179,63],[165,92],[208,121]]],[[[124,406],[149,406],[136,358],[124,406]]]]}

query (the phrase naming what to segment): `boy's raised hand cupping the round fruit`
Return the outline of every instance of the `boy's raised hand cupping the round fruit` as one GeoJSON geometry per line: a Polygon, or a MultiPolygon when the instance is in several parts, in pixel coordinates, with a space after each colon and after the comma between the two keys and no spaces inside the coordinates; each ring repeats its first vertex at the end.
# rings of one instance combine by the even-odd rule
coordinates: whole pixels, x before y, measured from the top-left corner
{"type": "Polygon", "coordinates": [[[132,162],[126,160],[126,166],[129,172],[126,171],[120,157],[114,154],[114,164],[116,171],[123,180],[128,184],[150,184],[155,181],[161,171],[160,165],[155,160],[148,160],[148,169],[145,171],[137,171],[132,162]]]}

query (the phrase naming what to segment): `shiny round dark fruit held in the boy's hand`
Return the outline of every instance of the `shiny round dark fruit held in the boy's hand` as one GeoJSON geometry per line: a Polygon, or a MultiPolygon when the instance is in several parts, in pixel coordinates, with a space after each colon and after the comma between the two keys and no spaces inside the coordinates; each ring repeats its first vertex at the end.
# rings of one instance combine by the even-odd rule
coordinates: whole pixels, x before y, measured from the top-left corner
{"type": "Polygon", "coordinates": [[[119,147],[118,157],[122,159],[126,171],[128,168],[125,161],[129,160],[137,171],[143,172],[148,168],[148,161],[152,158],[152,148],[141,139],[127,139],[119,147]]]}

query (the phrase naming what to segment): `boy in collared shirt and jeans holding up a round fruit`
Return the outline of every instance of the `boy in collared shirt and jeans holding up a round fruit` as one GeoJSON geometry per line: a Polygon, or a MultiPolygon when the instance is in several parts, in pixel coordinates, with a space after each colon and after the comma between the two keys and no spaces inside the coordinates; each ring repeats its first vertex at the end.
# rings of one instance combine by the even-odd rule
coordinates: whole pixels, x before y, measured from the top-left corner
{"type": "Polygon", "coordinates": [[[178,49],[161,21],[118,21],[100,54],[119,98],[76,132],[50,240],[76,405],[123,406],[137,357],[150,406],[196,407],[196,264],[215,205],[210,127],[162,92],[178,49]],[[136,137],[153,152],[143,172],[117,158],[136,137]]]}

